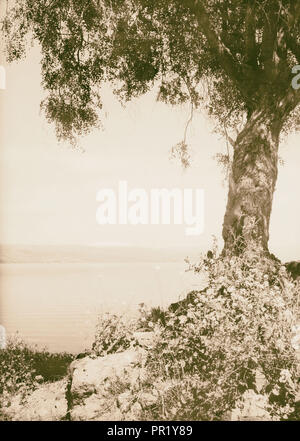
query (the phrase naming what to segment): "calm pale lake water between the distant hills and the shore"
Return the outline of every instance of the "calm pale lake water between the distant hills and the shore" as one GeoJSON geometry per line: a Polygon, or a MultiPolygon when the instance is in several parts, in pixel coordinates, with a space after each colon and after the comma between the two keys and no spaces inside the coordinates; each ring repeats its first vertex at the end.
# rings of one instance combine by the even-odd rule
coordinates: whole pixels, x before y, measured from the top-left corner
{"type": "Polygon", "coordinates": [[[0,324],[50,351],[90,348],[101,312],[166,306],[204,279],[182,263],[1,264],[0,324]]]}

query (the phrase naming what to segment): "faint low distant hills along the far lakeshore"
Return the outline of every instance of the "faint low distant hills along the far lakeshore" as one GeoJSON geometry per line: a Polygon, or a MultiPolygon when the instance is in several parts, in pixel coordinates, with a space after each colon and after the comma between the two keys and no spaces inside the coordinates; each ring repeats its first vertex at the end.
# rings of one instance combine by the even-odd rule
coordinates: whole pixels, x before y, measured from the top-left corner
{"type": "Polygon", "coordinates": [[[0,263],[182,262],[199,254],[198,248],[184,247],[0,245],[0,263]]]}

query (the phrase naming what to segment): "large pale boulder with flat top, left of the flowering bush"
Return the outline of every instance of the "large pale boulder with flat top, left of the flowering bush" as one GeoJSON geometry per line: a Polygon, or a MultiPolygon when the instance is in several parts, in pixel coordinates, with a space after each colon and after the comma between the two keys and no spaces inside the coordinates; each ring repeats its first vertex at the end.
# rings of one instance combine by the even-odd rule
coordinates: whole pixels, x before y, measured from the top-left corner
{"type": "Polygon", "coordinates": [[[137,348],[73,361],[67,387],[68,418],[123,420],[124,412],[130,407],[129,403],[125,405],[126,385],[129,387],[141,378],[145,356],[145,351],[137,348]]]}

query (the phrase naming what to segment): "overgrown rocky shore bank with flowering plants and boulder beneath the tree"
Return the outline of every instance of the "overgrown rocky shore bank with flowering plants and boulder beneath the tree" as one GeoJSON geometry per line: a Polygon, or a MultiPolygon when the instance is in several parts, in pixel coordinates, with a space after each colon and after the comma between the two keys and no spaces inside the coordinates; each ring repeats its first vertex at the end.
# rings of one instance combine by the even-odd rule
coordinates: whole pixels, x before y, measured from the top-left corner
{"type": "Polygon", "coordinates": [[[9,343],[2,397],[22,391],[28,419],[42,419],[28,406],[48,393],[48,418],[299,419],[299,282],[250,246],[239,256],[215,248],[190,269],[206,272],[202,291],[166,310],[141,305],[136,319],[99,318],[91,351],[68,368],[64,398],[61,386],[38,383],[61,381],[71,356],[9,343]]]}

